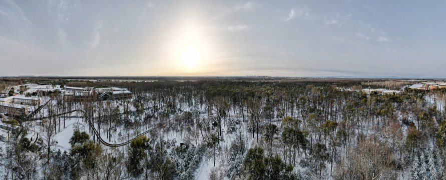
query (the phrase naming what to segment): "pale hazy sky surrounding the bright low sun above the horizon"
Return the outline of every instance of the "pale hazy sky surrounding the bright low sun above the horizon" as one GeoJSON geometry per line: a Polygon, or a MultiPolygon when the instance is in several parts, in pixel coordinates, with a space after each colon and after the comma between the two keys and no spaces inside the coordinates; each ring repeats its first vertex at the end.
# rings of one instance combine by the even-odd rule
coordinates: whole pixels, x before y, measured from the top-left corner
{"type": "Polygon", "coordinates": [[[0,0],[0,76],[444,77],[444,0],[0,0]],[[197,65],[185,63],[196,49],[197,65]]]}

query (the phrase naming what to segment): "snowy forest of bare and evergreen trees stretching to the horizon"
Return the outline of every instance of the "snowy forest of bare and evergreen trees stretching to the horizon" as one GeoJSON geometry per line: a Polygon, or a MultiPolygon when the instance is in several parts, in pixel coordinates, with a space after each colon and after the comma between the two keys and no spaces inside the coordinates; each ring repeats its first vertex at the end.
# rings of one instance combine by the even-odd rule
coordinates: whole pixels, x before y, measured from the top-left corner
{"type": "MultiPolygon", "coordinates": [[[[45,106],[2,118],[4,179],[446,177],[446,89],[405,79],[44,80],[132,98],[28,94],[45,106]],[[401,93],[361,92],[369,87],[401,93]]],[[[41,81],[3,80],[0,90],[41,81]]]]}

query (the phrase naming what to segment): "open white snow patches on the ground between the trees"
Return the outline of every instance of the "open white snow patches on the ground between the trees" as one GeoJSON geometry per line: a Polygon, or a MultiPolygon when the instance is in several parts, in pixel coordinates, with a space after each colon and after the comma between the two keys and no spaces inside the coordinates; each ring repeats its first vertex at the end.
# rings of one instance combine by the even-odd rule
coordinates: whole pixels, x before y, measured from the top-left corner
{"type": "MultiPolygon", "coordinates": [[[[54,87],[54,86],[51,86],[51,85],[37,85],[37,84],[29,84],[29,87],[30,87],[30,89],[47,89],[47,90],[58,89],[58,87],[54,87]]],[[[47,97],[47,96],[43,97],[43,101],[44,102],[48,101],[48,100],[50,100],[49,97],[47,97]]],[[[133,100],[135,100],[135,99],[129,100],[129,106],[128,106],[129,109],[127,109],[127,110],[129,110],[130,112],[134,112],[134,111],[137,110],[135,107],[133,107],[133,104],[131,103],[131,101],[133,101],[133,100]]],[[[434,95],[434,94],[425,95],[424,96],[424,102],[426,102],[428,106],[432,106],[433,104],[437,104],[437,109],[438,110],[443,110],[444,109],[444,103],[442,103],[443,101],[437,95],[434,95]]],[[[56,103],[56,102],[54,102],[54,103],[56,103]]],[[[126,110],[124,108],[124,104],[125,103],[123,101],[119,101],[119,100],[117,100],[117,101],[110,101],[110,103],[112,103],[112,106],[118,107],[120,112],[124,112],[126,110]]],[[[149,104],[150,103],[153,103],[153,102],[149,102],[149,104]]],[[[93,103],[93,104],[96,104],[96,102],[93,103]]],[[[166,104],[161,104],[161,105],[166,105],[166,104]]],[[[396,105],[396,104],[393,104],[393,105],[396,105]]],[[[199,110],[200,112],[202,112],[202,113],[200,113],[200,117],[199,117],[200,119],[201,118],[215,119],[215,114],[208,115],[207,113],[204,113],[204,112],[206,112],[206,109],[205,109],[206,106],[205,105],[200,106],[199,108],[198,107],[188,106],[188,105],[183,106],[183,104],[178,105],[178,106],[180,107],[180,109],[178,111],[178,113],[180,113],[180,114],[183,111],[199,110]]],[[[82,103],[77,103],[75,109],[76,108],[83,109],[84,107],[83,107],[82,103]]],[[[152,106],[150,106],[150,108],[152,108],[152,106]]],[[[150,108],[148,108],[148,109],[150,110],[150,108]]],[[[145,112],[148,112],[149,111],[148,109],[146,109],[145,112]]],[[[345,109],[343,109],[342,106],[339,107],[339,108],[338,107],[334,107],[334,111],[342,111],[342,110],[345,110],[345,109]]],[[[355,110],[357,110],[357,108],[355,110]]],[[[274,112],[274,113],[277,113],[277,112],[274,112]]],[[[295,111],[293,113],[294,114],[299,114],[297,111],[295,111]]],[[[393,114],[396,116],[396,119],[401,119],[402,116],[403,116],[401,111],[395,110],[395,109],[393,109],[393,114]]],[[[48,115],[48,108],[43,108],[40,115],[41,116],[48,115]]],[[[57,143],[55,143],[55,145],[53,145],[53,147],[52,147],[52,148],[54,148],[53,150],[57,151],[57,150],[60,149],[61,151],[64,151],[64,150],[65,151],[69,151],[70,148],[71,148],[69,140],[72,137],[73,132],[75,131],[75,129],[79,129],[81,131],[89,132],[88,123],[85,122],[85,119],[84,119],[84,117],[82,117],[82,115],[83,115],[82,113],[74,112],[72,114],[71,119],[68,118],[68,117],[65,117],[66,118],[65,128],[63,128],[63,126],[61,126],[60,131],[58,130],[58,132],[55,134],[55,136],[53,138],[53,140],[57,142],[57,143]]],[[[95,114],[95,115],[97,115],[97,114],[95,114]]],[[[124,114],[122,114],[122,113],[120,115],[122,117],[124,116],[124,114]]],[[[262,134],[261,134],[262,132],[259,132],[259,141],[258,142],[257,142],[256,138],[252,138],[252,133],[248,131],[248,124],[250,122],[247,119],[245,119],[245,121],[243,121],[242,120],[242,115],[236,113],[236,110],[232,110],[232,109],[228,110],[228,114],[226,114],[226,115],[229,118],[235,118],[235,119],[240,121],[239,127],[242,130],[241,134],[242,134],[243,140],[245,142],[246,149],[249,149],[249,148],[254,147],[256,145],[259,145],[259,146],[262,146],[262,147],[267,147],[268,146],[266,144],[263,144],[264,140],[262,138],[262,134]]],[[[274,114],[274,115],[276,115],[276,114],[274,114]]],[[[132,115],[129,115],[129,116],[131,116],[130,118],[135,118],[136,119],[136,117],[132,117],[132,115]]],[[[167,120],[168,121],[172,121],[173,120],[173,116],[174,116],[173,114],[170,114],[170,116],[167,117],[167,120]]],[[[247,114],[246,111],[244,112],[243,116],[245,118],[248,117],[248,114],[247,114]]],[[[213,159],[212,155],[210,155],[210,152],[207,152],[207,154],[203,157],[202,161],[199,163],[198,168],[195,171],[195,178],[196,179],[208,179],[210,174],[213,171],[214,172],[218,171],[219,173],[224,173],[224,174],[226,173],[225,172],[225,170],[226,170],[225,168],[227,168],[228,163],[229,163],[228,162],[228,158],[229,158],[229,154],[228,154],[229,150],[228,149],[231,146],[231,142],[236,140],[236,134],[234,134],[234,133],[227,133],[229,131],[228,130],[228,124],[226,124],[224,122],[228,121],[228,117],[226,117],[225,120],[222,120],[222,123],[223,123],[222,124],[222,132],[223,132],[222,133],[222,137],[223,137],[224,140],[219,142],[220,149],[217,150],[217,154],[215,156],[215,167],[214,167],[214,164],[213,164],[214,159],[213,159]]],[[[331,118],[337,118],[337,117],[327,116],[327,118],[331,119],[331,118]]],[[[352,120],[359,121],[360,118],[362,118],[362,117],[355,117],[352,120]]],[[[371,117],[369,117],[369,118],[371,118],[371,117]]],[[[365,135],[368,135],[368,134],[375,133],[377,131],[377,129],[379,130],[379,129],[387,128],[387,125],[384,125],[384,124],[386,123],[386,121],[388,121],[390,119],[386,119],[386,117],[377,117],[377,115],[375,117],[373,117],[373,118],[375,118],[375,121],[372,122],[372,123],[370,123],[370,121],[368,121],[368,122],[366,122],[364,124],[356,122],[357,124],[354,124],[354,126],[351,127],[352,128],[352,131],[351,131],[352,134],[357,135],[357,134],[364,133],[365,135]]],[[[411,114],[411,115],[409,115],[408,118],[411,121],[414,121],[414,119],[416,117],[413,114],[411,114]]],[[[132,120],[135,120],[135,119],[132,119],[132,120]]],[[[281,118],[273,118],[271,121],[272,121],[273,124],[277,125],[280,128],[281,118]]],[[[103,130],[101,130],[100,135],[106,142],[109,142],[109,143],[126,142],[126,141],[132,139],[133,137],[135,137],[137,135],[137,133],[140,133],[142,131],[145,131],[145,130],[148,130],[148,129],[159,130],[159,129],[156,129],[158,127],[155,126],[155,124],[158,123],[158,122],[160,122],[160,119],[153,118],[152,122],[150,122],[150,125],[148,126],[147,129],[146,129],[146,125],[147,124],[144,124],[144,125],[141,124],[140,126],[134,126],[133,127],[134,129],[126,129],[126,128],[124,128],[124,125],[122,125],[122,124],[118,125],[116,127],[116,130],[112,130],[111,140],[108,140],[107,135],[103,133],[103,130]],[[138,129],[138,130],[135,130],[135,129],[138,129]]],[[[266,119],[265,119],[265,122],[267,122],[266,119]]],[[[414,123],[415,123],[416,126],[418,126],[416,121],[414,121],[414,123]]],[[[94,124],[94,125],[95,125],[95,128],[98,129],[98,124],[94,124]]],[[[389,125],[391,125],[391,124],[389,124],[389,125]]],[[[27,122],[25,124],[25,126],[29,127],[29,129],[30,129],[28,131],[28,134],[26,135],[28,138],[35,139],[38,134],[40,135],[40,137],[42,137],[42,134],[40,134],[40,133],[42,133],[42,130],[40,129],[41,125],[39,124],[39,121],[27,122]]],[[[407,126],[401,125],[401,127],[399,129],[402,132],[401,134],[405,137],[407,135],[407,126]]],[[[306,129],[306,130],[308,130],[308,129],[306,129]]],[[[179,146],[181,142],[186,141],[186,133],[187,132],[186,132],[185,129],[182,129],[182,132],[176,131],[176,130],[166,130],[166,131],[163,131],[163,132],[164,132],[164,134],[162,134],[162,135],[164,136],[164,140],[166,140],[166,141],[174,141],[175,142],[174,146],[179,146]]],[[[386,138],[388,138],[388,137],[385,136],[386,134],[384,134],[384,132],[379,134],[379,135],[382,135],[380,137],[380,139],[383,140],[383,141],[386,140],[386,138]]],[[[150,138],[153,138],[153,137],[150,137],[150,138]]],[[[280,136],[278,135],[275,138],[279,139],[280,136]]],[[[320,135],[317,136],[316,132],[314,132],[313,136],[311,136],[311,134],[310,134],[310,136],[308,136],[308,139],[310,139],[310,138],[315,141],[315,139],[319,140],[319,138],[321,138],[321,137],[320,137],[320,135]]],[[[321,141],[322,143],[328,144],[324,138],[326,138],[326,137],[322,136],[322,140],[319,140],[319,141],[321,141]]],[[[200,143],[204,143],[203,141],[204,141],[204,139],[202,139],[202,137],[200,136],[198,142],[192,141],[192,143],[200,144],[200,143]]],[[[277,144],[275,144],[274,146],[276,146],[276,147],[280,146],[280,145],[278,145],[279,143],[281,143],[281,142],[279,142],[280,140],[276,140],[276,141],[277,142],[274,142],[274,143],[277,143],[277,144]]],[[[348,143],[349,145],[356,144],[356,143],[357,143],[356,136],[355,136],[355,138],[349,139],[349,143],[348,143]]],[[[5,144],[4,143],[0,143],[0,145],[5,145],[5,144]]],[[[388,144],[388,145],[391,146],[391,143],[388,144]]],[[[429,142],[429,146],[432,146],[432,144],[430,142],[429,142]]],[[[108,149],[108,147],[104,147],[104,148],[106,150],[108,149]]],[[[128,148],[128,146],[126,146],[125,148],[128,148]]],[[[339,148],[341,148],[341,147],[339,147],[339,148]]],[[[127,150],[127,149],[125,149],[125,150],[127,150]]],[[[169,153],[171,153],[173,151],[172,146],[168,147],[167,151],[169,153]]],[[[208,149],[208,151],[209,151],[209,149],[208,149]]],[[[341,151],[341,152],[339,152],[340,156],[342,156],[342,157],[346,156],[347,150],[342,149],[340,151],[341,151]]],[[[283,152],[280,152],[279,148],[276,148],[276,149],[274,149],[274,153],[282,155],[283,152]]],[[[300,155],[299,157],[297,157],[297,162],[299,162],[299,160],[301,160],[301,159],[304,159],[304,157],[307,157],[306,153],[300,155]]],[[[329,174],[330,173],[330,168],[328,168],[328,167],[330,167],[331,164],[329,162],[327,162],[327,163],[325,163],[325,165],[327,166],[327,168],[324,168],[322,173],[323,174],[329,174]]],[[[295,166],[294,166],[294,171],[295,172],[296,171],[304,171],[304,170],[308,170],[308,169],[306,167],[301,166],[299,163],[295,164],[295,166]]],[[[226,175],[223,175],[223,176],[224,176],[225,179],[228,179],[228,177],[226,175]]],[[[333,177],[326,176],[326,178],[327,179],[331,179],[333,177]]],[[[401,178],[401,177],[398,176],[398,178],[401,178]]]]}

